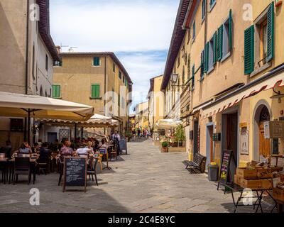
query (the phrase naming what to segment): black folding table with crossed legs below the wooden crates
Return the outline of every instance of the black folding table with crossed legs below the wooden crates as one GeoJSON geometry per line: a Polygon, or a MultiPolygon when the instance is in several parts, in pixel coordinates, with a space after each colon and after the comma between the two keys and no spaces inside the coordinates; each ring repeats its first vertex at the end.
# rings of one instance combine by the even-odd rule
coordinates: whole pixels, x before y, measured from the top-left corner
{"type": "MultiPolygon", "coordinates": [[[[244,187],[241,187],[238,184],[234,184],[234,182],[224,184],[224,186],[231,191],[231,196],[232,196],[234,207],[235,207],[234,213],[236,213],[238,206],[253,206],[253,209],[255,209],[255,207],[257,206],[256,213],[258,212],[259,208],[261,208],[261,213],[263,213],[261,201],[263,199],[263,192],[268,192],[268,189],[251,189],[252,192],[256,192],[256,196],[243,196],[244,187]],[[234,199],[234,192],[240,192],[241,193],[241,195],[239,196],[239,198],[236,201],[234,199]],[[261,194],[259,194],[258,192],[261,192],[261,194]],[[252,204],[249,204],[249,203],[248,204],[240,204],[241,199],[253,199],[253,198],[256,198],[256,201],[252,204]]],[[[269,195],[271,196],[271,194],[269,194],[269,195]]]]}

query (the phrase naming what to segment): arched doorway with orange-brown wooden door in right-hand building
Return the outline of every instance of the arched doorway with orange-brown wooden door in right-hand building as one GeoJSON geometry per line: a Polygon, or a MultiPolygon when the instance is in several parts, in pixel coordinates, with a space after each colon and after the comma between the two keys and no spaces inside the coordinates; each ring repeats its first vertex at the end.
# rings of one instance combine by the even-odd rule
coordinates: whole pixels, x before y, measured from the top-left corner
{"type": "Polygon", "coordinates": [[[254,160],[258,161],[261,155],[263,155],[263,157],[271,155],[271,140],[264,138],[264,122],[271,121],[271,113],[266,104],[258,106],[254,120],[254,160]]]}

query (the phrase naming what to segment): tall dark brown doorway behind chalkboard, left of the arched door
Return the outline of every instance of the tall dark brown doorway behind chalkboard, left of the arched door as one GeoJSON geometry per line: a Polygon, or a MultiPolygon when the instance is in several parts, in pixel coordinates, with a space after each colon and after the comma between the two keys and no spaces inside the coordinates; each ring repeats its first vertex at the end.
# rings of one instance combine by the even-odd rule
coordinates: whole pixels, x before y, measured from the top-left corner
{"type": "MultiPolygon", "coordinates": [[[[238,167],[239,159],[239,118],[238,112],[223,114],[222,119],[222,154],[224,150],[232,150],[230,172],[231,177],[234,177],[236,167],[238,167]]],[[[231,179],[229,179],[231,180],[231,179]]]]}

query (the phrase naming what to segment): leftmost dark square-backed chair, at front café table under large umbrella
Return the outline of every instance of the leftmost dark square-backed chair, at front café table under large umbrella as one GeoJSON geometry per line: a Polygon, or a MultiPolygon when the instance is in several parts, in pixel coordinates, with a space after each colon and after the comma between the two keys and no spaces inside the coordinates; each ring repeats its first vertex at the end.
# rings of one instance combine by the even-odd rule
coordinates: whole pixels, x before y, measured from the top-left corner
{"type": "Polygon", "coordinates": [[[28,184],[31,183],[31,164],[29,157],[15,157],[13,184],[18,182],[18,175],[28,175],[28,184]]]}

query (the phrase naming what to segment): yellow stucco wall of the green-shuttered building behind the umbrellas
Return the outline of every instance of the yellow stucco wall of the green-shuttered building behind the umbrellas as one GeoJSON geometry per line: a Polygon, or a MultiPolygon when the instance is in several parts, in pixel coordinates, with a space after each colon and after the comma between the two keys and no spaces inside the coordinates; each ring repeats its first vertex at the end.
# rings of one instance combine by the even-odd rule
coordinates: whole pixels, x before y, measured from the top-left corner
{"type": "MultiPolygon", "coordinates": [[[[114,61],[109,55],[63,55],[62,67],[54,68],[53,84],[60,85],[61,99],[94,106],[95,113],[104,115],[104,94],[112,92],[112,89],[116,94],[120,94],[120,86],[125,87],[122,80],[122,77],[124,77],[122,70],[116,65],[116,70],[113,72],[113,64],[114,61]],[[93,66],[94,57],[100,57],[100,66],[93,66]],[[104,80],[105,62],[107,62],[106,81],[104,80]],[[119,79],[119,71],[121,71],[121,79],[119,79]],[[100,85],[102,99],[90,99],[92,84],[100,85]],[[106,90],[104,87],[106,87],[106,90]]],[[[128,89],[126,89],[126,96],[128,93],[128,89]]],[[[127,105],[127,101],[125,101],[125,104],[127,105]]],[[[118,113],[118,116],[120,117],[121,114],[118,113]]],[[[121,116],[121,119],[122,129],[124,130],[128,122],[127,114],[121,116]]]]}

